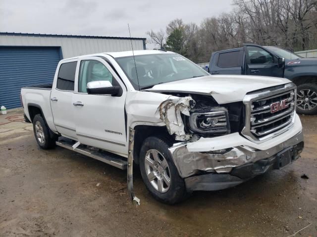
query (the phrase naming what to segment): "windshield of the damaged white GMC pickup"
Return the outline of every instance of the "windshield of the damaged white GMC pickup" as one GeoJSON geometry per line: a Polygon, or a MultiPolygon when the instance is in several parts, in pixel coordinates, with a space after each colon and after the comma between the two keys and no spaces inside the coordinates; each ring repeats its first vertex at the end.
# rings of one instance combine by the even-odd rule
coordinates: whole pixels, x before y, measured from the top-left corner
{"type": "Polygon", "coordinates": [[[121,57],[115,59],[135,89],[151,88],[154,85],[208,76],[198,65],[175,53],[158,53],[121,57]]]}

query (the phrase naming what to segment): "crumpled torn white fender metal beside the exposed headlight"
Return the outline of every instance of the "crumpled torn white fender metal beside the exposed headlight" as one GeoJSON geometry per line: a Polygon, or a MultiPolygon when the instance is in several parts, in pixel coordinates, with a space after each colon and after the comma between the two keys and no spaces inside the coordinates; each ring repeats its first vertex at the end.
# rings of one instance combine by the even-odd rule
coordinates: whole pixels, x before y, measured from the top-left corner
{"type": "Polygon", "coordinates": [[[190,106],[195,105],[195,101],[190,96],[173,97],[164,100],[156,112],[159,118],[165,122],[170,135],[175,134],[176,140],[186,141],[191,138],[190,134],[186,134],[181,114],[189,116],[190,106]]]}

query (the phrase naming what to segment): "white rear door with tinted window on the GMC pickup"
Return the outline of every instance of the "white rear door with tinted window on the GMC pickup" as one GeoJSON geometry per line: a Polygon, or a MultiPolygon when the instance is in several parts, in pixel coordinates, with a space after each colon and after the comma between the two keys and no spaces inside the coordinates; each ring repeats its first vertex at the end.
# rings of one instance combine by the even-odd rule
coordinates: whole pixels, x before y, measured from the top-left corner
{"type": "Polygon", "coordinates": [[[64,137],[77,140],[72,96],[75,91],[77,60],[63,62],[55,74],[51,92],[51,108],[57,131],[64,137]]]}

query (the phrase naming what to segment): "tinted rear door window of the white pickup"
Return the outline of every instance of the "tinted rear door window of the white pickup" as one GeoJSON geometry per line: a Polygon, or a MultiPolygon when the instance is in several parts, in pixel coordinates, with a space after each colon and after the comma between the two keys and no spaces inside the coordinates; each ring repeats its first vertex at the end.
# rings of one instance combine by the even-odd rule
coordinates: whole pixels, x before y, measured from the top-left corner
{"type": "Polygon", "coordinates": [[[74,91],[76,66],[77,61],[60,65],[57,77],[57,89],[74,91]]]}

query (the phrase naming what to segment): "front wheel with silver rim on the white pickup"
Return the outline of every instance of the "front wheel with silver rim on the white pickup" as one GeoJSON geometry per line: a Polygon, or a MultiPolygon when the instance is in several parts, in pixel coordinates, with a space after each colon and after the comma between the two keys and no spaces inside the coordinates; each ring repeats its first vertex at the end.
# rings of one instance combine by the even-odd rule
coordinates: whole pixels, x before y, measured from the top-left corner
{"type": "Polygon", "coordinates": [[[166,204],[175,204],[188,197],[188,193],[168,148],[162,138],[145,139],[140,152],[140,171],[153,197],[166,204]]]}

